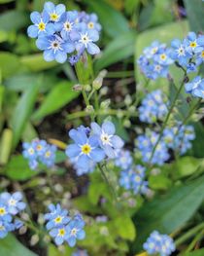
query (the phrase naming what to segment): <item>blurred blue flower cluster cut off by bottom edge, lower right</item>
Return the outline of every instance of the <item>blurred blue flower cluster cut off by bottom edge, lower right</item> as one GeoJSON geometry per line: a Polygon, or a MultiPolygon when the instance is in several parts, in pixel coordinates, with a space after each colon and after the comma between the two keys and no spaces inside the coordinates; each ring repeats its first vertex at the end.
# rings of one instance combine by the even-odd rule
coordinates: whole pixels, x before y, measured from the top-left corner
{"type": "Polygon", "coordinates": [[[143,244],[143,248],[150,255],[169,256],[176,247],[172,238],[167,235],[161,235],[157,231],[153,231],[151,236],[143,244]]]}

